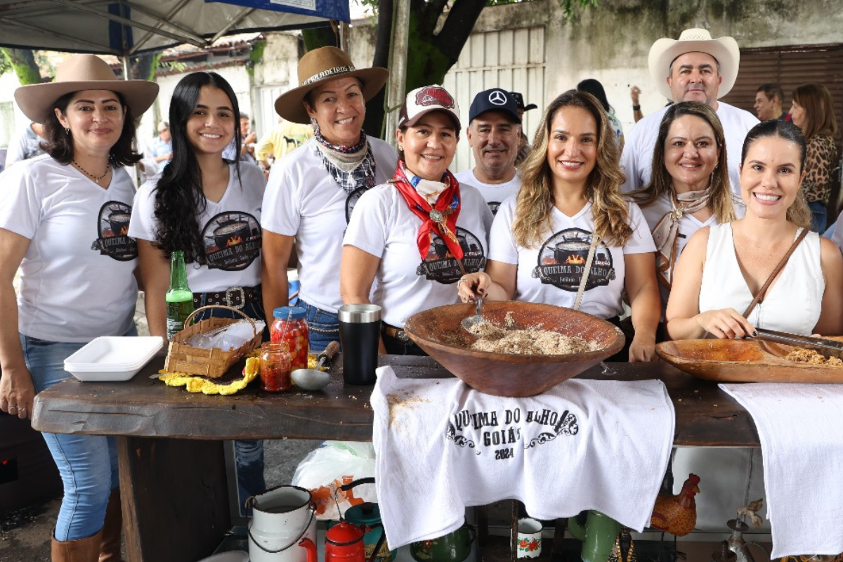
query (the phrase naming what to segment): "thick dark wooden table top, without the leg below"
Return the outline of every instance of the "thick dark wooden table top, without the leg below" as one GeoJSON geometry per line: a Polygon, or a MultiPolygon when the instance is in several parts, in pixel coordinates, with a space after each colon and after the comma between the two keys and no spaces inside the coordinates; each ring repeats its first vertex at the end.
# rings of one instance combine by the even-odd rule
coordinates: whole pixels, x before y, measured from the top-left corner
{"type": "MultiPolygon", "coordinates": [[[[222,439],[336,439],[370,441],[371,386],[346,385],[342,360],[331,367],[331,382],[316,392],[293,387],[284,393],[260,391],[257,383],[232,396],[189,393],[150,379],[163,366],[153,359],[126,383],[80,383],[71,377],[35,397],[32,425],[39,431],[86,435],[222,439]]],[[[452,377],[429,357],[379,356],[400,378],[452,377]]],[[[690,447],[759,447],[751,416],[711,383],[690,377],[663,361],[610,363],[580,378],[645,380],[668,388],[676,412],[674,444],[690,447]]]]}

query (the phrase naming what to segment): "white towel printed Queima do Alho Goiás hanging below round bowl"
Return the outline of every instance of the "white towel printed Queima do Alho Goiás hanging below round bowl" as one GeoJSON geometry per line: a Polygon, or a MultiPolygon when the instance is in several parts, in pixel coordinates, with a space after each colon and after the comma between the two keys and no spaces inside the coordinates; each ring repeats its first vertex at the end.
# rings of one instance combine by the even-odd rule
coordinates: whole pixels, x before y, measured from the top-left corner
{"type": "Polygon", "coordinates": [[[673,404],[657,380],[572,379],[514,399],[380,367],[372,409],[390,549],[450,533],[466,506],[507,498],[539,519],[594,509],[641,531],[674,437],[673,404]]]}

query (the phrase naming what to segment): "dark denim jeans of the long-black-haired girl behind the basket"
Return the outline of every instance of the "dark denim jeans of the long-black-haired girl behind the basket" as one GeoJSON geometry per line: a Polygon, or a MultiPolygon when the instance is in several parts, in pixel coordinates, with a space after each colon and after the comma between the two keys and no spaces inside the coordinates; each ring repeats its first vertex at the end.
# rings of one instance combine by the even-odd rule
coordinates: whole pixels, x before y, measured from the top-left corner
{"type": "MultiPolygon", "coordinates": [[[[204,306],[200,302],[200,306],[204,306]]],[[[251,302],[240,310],[255,320],[266,322],[263,302],[251,302]]],[[[196,322],[207,318],[243,318],[225,308],[210,308],[196,314],[196,322]]],[[[269,341],[269,326],[264,329],[263,340],[269,341]]],[[[263,441],[260,439],[244,439],[234,442],[234,466],[237,470],[237,497],[241,516],[250,515],[244,507],[244,502],[250,495],[258,495],[266,491],[264,480],[263,441]]]]}

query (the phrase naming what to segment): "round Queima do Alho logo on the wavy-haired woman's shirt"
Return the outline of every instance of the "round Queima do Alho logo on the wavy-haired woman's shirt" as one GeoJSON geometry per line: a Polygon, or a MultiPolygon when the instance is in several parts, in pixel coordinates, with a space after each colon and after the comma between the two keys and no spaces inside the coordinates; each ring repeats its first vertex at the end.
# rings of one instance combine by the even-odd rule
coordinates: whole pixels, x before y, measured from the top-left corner
{"type": "MultiPolygon", "coordinates": [[[[566,228],[553,234],[542,244],[539,263],[533,270],[533,277],[563,291],[577,292],[583,279],[588,250],[591,249],[593,234],[583,228],[566,228]]],[[[585,290],[609,285],[615,279],[612,252],[601,241],[594,249],[591,269],[585,290]]]]}

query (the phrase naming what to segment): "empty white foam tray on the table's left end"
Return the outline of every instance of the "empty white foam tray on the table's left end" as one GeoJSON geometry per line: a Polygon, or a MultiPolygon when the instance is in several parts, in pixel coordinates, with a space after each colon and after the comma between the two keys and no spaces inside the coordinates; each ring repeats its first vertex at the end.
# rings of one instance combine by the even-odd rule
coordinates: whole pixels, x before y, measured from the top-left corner
{"type": "Polygon", "coordinates": [[[103,336],[64,360],[64,370],[80,381],[127,381],[164,345],[158,336],[103,336]]]}

